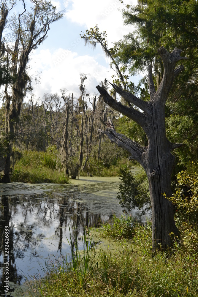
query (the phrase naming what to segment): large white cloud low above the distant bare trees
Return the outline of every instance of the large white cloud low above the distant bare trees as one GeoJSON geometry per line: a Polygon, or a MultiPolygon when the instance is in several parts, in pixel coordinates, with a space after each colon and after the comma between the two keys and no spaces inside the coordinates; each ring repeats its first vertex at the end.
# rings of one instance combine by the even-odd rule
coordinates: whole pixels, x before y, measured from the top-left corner
{"type": "MultiPolygon", "coordinates": [[[[78,97],[80,73],[88,75],[85,81],[87,91],[90,94],[97,93],[96,86],[104,78],[110,79],[111,72],[109,66],[100,65],[96,58],[84,55],[79,56],[71,50],[59,48],[54,52],[49,49],[35,53],[30,61],[31,74],[34,75],[38,70],[41,81],[35,85],[33,82],[33,93],[36,97],[44,93],[59,93],[60,89],[66,88],[69,93],[78,97]]],[[[41,95],[42,94],[42,95],[41,95]]]]}

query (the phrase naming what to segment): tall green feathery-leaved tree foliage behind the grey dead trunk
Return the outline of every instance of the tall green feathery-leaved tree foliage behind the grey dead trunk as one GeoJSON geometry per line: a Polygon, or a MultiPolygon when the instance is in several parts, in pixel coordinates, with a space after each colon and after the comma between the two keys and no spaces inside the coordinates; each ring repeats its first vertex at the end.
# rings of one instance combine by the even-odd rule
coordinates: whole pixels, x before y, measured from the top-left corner
{"type": "MultiPolygon", "coordinates": [[[[135,31],[114,44],[114,59],[118,64],[124,64],[131,75],[145,71],[148,64],[153,65],[156,89],[164,71],[157,48],[164,46],[169,52],[175,47],[181,48],[182,56],[188,57],[183,63],[184,71],[175,79],[166,103],[167,138],[173,143],[185,143],[174,152],[180,165],[180,168],[175,168],[176,173],[181,168],[186,169],[189,159],[198,161],[197,15],[196,0],[143,0],[137,5],[126,5],[123,18],[127,25],[135,26],[135,31]]],[[[147,76],[141,83],[144,87],[141,86],[136,93],[147,100],[147,76]]],[[[134,87],[132,89],[134,91],[134,87]]],[[[136,132],[133,138],[140,140],[136,132]]]]}

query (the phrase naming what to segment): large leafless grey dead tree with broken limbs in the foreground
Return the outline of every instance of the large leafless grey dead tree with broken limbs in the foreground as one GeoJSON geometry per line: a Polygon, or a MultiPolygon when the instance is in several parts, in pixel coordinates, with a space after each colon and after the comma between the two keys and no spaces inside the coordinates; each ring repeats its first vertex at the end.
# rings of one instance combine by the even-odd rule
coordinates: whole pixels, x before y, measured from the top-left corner
{"type": "Polygon", "coordinates": [[[104,88],[96,87],[103,96],[104,102],[137,122],[147,135],[148,146],[144,147],[124,135],[116,133],[114,129],[108,128],[103,131],[111,141],[129,151],[130,158],[138,161],[146,171],[152,206],[153,251],[156,249],[165,250],[172,246],[173,237],[170,233],[178,236],[172,203],[163,194],[166,193],[167,197],[171,196],[171,174],[175,163],[175,157],[171,151],[180,147],[181,144],[170,143],[166,138],[165,103],[175,77],[183,70],[183,66],[175,69],[176,63],[186,59],[180,57],[181,50],[178,48],[175,48],[172,53],[168,53],[164,47],[161,47],[158,53],[164,64],[164,74],[156,91],[152,78],[152,68],[149,66],[149,102],[145,102],[112,84],[118,94],[143,112],[116,102],[104,88]]]}

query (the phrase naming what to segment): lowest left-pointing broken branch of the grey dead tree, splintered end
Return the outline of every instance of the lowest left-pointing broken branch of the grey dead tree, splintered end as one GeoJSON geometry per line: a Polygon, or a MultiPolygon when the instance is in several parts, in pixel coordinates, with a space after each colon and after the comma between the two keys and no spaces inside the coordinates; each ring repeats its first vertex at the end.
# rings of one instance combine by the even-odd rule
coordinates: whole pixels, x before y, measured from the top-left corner
{"type": "Polygon", "coordinates": [[[115,132],[115,130],[111,128],[107,128],[105,131],[98,129],[98,131],[106,134],[112,142],[115,142],[119,147],[128,151],[131,154],[130,158],[136,160],[143,166],[142,154],[146,151],[144,146],[141,146],[139,143],[115,132]]]}

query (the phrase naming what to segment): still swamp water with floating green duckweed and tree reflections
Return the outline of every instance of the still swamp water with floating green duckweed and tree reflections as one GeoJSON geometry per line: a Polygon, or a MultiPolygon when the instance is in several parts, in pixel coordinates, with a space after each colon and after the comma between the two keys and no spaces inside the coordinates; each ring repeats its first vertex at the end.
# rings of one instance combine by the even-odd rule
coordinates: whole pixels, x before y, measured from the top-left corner
{"type": "MultiPolygon", "coordinates": [[[[113,214],[122,214],[116,198],[121,182],[118,177],[80,177],[71,182],[0,184],[0,296],[16,296],[12,291],[25,281],[24,276],[42,276],[42,266],[53,255],[71,252],[68,225],[76,225],[80,243],[85,226],[97,226],[113,214]],[[6,259],[5,226],[9,228],[6,259]],[[4,292],[7,271],[9,294],[4,292]]],[[[146,219],[137,210],[132,216],[146,219]]]]}

